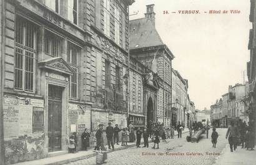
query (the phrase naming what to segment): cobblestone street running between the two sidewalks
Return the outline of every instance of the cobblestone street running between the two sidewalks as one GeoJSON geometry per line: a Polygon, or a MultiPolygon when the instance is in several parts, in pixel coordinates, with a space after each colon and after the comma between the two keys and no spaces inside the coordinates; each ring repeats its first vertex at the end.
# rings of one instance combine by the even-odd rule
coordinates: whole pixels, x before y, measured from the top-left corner
{"type": "MultiPolygon", "coordinates": [[[[212,148],[212,143],[210,142],[211,130],[209,131],[209,139],[206,138],[206,134],[203,134],[199,143],[188,143],[185,140],[188,134],[186,133],[182,134],[182,139],[178,139],[175,136],[175,139],[168,139],[164,143],[161,141],[159,144],[160,149],[152,149],[153,143],[150,143],[149,148],[132,147],[109,153],[105,164],[214,164],[215,158],[219,156],[217,154],[220,154],[227,144],[227,139],[225,139],[226,131],[226,129],[217,129],[219,139],[216,148],[212,148]],[[210,155],[214,153],[216,155],[210,155]]],[[[68,165],[82,164],[96,164],[96,157],[83,159],[68,165]]]]}

